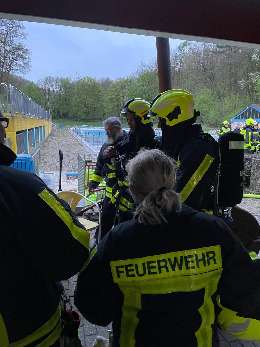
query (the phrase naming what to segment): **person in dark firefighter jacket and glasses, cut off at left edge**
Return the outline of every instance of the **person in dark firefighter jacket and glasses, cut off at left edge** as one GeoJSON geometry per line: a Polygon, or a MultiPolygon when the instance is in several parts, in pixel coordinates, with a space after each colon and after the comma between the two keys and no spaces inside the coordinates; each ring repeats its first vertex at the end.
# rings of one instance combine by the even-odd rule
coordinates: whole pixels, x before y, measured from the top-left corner
{"type": "Polygon", "coordinates": [[[8,122],[0,114],[0,346],[59,346],[53,282],[81,269],[89,233],[37,175],[9,167],[16,155],[3,144],[8,122]]]}

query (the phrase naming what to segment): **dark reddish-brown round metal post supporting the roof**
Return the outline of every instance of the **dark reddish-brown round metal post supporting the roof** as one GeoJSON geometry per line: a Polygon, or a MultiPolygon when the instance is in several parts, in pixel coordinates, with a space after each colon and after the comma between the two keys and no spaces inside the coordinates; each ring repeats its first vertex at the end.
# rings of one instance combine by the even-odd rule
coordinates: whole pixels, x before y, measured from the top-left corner
{"type": "Polygon", "coordinates": [[[172,89],[170,40],[156,37],[159,92],[172,89]]]}

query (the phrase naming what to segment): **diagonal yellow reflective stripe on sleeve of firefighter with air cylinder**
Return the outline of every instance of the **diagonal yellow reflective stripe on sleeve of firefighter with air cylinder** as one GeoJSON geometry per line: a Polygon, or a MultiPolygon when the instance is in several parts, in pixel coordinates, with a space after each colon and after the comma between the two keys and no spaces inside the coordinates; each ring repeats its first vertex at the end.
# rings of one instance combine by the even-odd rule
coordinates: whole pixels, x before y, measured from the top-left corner
{"type": "Polygon", "coordinates": [[[180,195],[182,197],[182,203],[187,200],[190,193],[193,191],[193,189],[197,186],[199,181],[205,175],[205,173],[207,172],[208,168],[210,167],[211,163],[213,163],[213,161],[214,161],[214,158],[210,156],[209,154],[205,156],[205,158],[203,159],[198,169],[194,172],[194,174],[191,176],[186,186],[180,192],[180,195]]]}

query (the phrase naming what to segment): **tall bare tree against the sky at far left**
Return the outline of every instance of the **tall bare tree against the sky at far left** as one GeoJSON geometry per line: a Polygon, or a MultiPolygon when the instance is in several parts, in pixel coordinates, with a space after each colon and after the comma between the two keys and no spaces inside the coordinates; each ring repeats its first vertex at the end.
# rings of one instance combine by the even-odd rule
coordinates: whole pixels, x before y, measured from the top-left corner
{"type": "Polygon", "coordinates": [[[26,46],[23,22],[0,19],[0,83],[10,74],[27,74],[31,70],[31,50],[26,46]]]}

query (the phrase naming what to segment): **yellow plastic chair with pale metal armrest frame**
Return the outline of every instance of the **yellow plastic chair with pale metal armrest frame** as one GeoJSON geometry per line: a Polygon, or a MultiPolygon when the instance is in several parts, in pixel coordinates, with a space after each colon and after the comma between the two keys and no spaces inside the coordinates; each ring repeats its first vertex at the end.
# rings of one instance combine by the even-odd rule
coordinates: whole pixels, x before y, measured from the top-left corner
{"type": "Polygon", "coordinates": [[[59,199],[66,201],[69,204],[71,211],[73,212],[75,212],[76,206],[82,198],[96,205],[97,211],[98,211],[98,223],[92,222],[85,218],[78,218],[78,220],[80,221],[81,224],[84,225],[85,229],[88,231],[95,230],[96,228],[98,228],[98,242],[99,242],[101,237],[101,210],[99,205],[95,201],[92,201],[89,198],[87,198],[86,196],[79,194],[77,192],[73,192],[73,191],[60,191],[60,192],[57,192],[56,195],[58,196],[59,199]]]}

